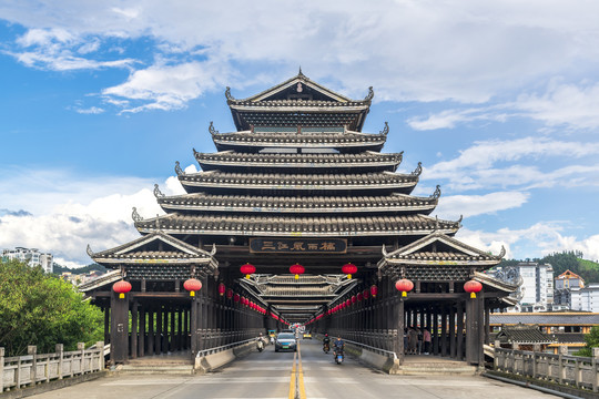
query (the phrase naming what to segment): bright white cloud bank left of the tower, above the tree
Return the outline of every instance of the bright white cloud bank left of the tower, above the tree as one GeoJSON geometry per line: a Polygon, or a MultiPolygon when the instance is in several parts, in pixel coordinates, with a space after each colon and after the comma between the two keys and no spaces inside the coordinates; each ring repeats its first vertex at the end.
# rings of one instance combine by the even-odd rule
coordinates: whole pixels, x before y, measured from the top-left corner
{"type": "MultiPolygon", "coordinates": [[[[70,265],[84,266],[91,263],[85,254],[88,244],[103,250],[139,236],[131,216],[133,206],[145,218],[163,214],[152,194],[153,184],[142,178],[88,180],[64,171],[10,172],[0,173],[0,186],[6,188],[0,192],[0,203],[11,211],[0,213],[0,248],[35,247],[70,265]],[[14,192],[20,194],[10,194],[14,192]]],[[[181,185],[177,188],[173,178],[161,188],[166,195],[181,194],[181,185]]]]}

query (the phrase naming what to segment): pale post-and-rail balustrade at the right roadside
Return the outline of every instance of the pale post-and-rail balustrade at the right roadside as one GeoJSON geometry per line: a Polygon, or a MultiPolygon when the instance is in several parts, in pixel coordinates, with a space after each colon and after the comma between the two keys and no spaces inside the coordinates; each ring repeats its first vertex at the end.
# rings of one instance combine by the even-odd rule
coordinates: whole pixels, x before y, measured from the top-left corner
{"type": "Polygon", "coordinates": [[[494,368],[527,378],[599,391],[599,348],[593,348],[592,357],[568,356],[567,350],[567,347],[560,347],[560,354],[554,355],[496,347],[494,368]]]}

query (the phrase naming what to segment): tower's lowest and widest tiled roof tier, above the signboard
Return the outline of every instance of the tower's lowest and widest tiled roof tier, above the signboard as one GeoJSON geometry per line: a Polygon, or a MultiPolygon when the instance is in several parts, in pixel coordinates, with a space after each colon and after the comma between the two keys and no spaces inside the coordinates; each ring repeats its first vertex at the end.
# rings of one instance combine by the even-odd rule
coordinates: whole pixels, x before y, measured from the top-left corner
{"type": "Polygon", "coordinates": [[[181,215],[135,222],[141,233],[156,228],[169,234],[240,235],[281,237],[412,236],[433,231],[454,234],[459,222],[435,221],[429,216],[294,217],[246,215],[181,215]]]}

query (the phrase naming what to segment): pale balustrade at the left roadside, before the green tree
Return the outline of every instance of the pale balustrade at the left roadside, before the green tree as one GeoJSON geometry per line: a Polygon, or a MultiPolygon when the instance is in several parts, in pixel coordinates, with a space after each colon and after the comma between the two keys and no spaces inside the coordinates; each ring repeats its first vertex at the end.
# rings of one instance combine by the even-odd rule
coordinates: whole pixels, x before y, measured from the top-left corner
{"type": "Polygon", "coordinates": [[[104,342],[93,349],[79,342],[77,348],[64,351],[58,344],[54,354],[38,354],[37,347],[29,346],[28,355],[16,357],[4,357],[0,348],[0,392],[104,369],[104,342]]]}

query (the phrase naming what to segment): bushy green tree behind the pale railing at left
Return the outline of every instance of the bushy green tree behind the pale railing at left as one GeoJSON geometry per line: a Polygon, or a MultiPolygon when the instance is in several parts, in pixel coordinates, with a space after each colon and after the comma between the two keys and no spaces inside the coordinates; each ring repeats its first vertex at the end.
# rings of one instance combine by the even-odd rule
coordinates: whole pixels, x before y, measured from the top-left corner
{"type": "Polygon", "coordinates": [[[53,351],[55,344],[73,350],[77,342],[101,340],[102,330],[102,311],[70,283],[41,267],[0,262],[0,347],[7,356],[24,354],[28,345],[38,352],[53,351]]]}

